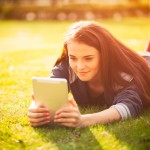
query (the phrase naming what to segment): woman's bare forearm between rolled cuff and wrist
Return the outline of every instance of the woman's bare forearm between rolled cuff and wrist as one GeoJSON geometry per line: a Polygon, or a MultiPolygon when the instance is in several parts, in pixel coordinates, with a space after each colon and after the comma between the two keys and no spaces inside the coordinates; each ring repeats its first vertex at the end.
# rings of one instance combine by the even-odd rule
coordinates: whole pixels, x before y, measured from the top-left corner
{"type": "Polygon", "coordinates": [[[109,108],[98,113],[82,115],[81,118],[81,127],[86,127],[95,124],[107,124],[120,120],[121,115],[115,108],[109,108]]]}

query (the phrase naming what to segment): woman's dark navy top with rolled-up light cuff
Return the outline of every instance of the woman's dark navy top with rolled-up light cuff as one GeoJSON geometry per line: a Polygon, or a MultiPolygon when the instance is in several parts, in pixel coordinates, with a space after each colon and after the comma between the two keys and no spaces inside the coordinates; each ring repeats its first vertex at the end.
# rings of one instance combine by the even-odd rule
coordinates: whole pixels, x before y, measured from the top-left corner
{"type": "MultiPolygon", "coordinates": [[[[145,56],[150,64],[150,56],[145,56]]],[[[51,78],[65,78],[68,81],[68,89],[76,100],[79,106],[115,106],[117,110],[128,116],[138,116],[143,110],[143,104],[137,88],[132,84],[119,90],[115,96],[101,94],[95,98],[91,98],[88,92],[86,82],[75,78],[73,82],[70,81],[70,69],[68,61],[62,61],[60,64],[52,69],[51,78]],[[119,106],[120,105],[120,106],[119,106]],[[119,108],[118,108],[119,107],[119,108]]],[[[121,115],[122,116],[122,115],[121,115]]],[[[122,117],[123,117],[122,116],[122,117]]]]}

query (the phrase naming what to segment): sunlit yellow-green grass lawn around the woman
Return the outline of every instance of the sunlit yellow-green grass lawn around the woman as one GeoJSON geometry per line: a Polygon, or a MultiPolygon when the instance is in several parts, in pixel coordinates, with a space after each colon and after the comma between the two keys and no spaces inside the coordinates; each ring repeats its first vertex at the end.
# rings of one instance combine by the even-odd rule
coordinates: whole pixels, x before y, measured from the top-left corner
{"type": "MultiPolygon", "coordinates": [[[[144,50],[150,31],[148,18],[100,22],[133,50],[144,50]]],[[[31,102],[31,77],[49,76],[71,23],[0,22],[0,150],[147,150],[150,112],[139,118],[84,129],[30,127],[26,114],[31,102]]],[[[95,111],[98,109],[82,110],[95,111]]]]}

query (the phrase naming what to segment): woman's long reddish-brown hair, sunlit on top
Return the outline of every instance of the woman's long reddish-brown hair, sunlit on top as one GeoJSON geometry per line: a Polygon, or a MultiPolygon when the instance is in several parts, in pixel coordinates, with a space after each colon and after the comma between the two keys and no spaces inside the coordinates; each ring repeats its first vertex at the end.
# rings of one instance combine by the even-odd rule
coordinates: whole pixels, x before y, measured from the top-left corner
{"type": "Polygon", "coordinates": [[[96,48],[101,56],[101,77],[105,92],[114,94],[116,85],[125,87],[129,84],[121,73],[133,77],[142,100],[150,105],[150,69],[145,59],[118,41],[104,27],[93,21],[80,21],[71,26],[61,57],[55,65],[67,58],[67,43],[77,41],[96,48]]]}

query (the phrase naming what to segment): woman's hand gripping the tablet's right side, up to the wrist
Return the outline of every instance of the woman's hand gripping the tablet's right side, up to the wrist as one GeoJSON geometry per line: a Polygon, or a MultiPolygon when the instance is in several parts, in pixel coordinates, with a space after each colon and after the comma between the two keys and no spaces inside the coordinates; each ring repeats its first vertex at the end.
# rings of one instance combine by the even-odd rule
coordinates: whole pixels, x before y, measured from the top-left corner
{"type": "Polygon", "coordinates": [[[69,100],[69,105],[59,109],[54,116],[54,122],[67,127],[80,127],[81,114],[75,101],[69,100]]]}

